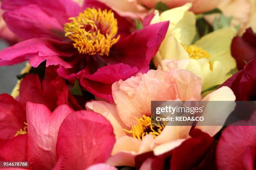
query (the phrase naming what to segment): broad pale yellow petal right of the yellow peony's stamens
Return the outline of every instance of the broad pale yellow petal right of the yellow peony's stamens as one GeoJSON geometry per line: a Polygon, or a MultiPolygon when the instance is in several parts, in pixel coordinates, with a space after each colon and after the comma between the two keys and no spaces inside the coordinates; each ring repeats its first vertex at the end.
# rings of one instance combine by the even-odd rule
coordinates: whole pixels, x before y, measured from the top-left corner
{"type": "Polygon", "coordinates": [[[203,36],[195,42],[195,45],[202,47],[210,54],[210,60],[220,61],[225,67],[225,73],[236,68],[236,60],[231,55],[230,45],[236,35],[234,28],[223,28],[203,36]]]}

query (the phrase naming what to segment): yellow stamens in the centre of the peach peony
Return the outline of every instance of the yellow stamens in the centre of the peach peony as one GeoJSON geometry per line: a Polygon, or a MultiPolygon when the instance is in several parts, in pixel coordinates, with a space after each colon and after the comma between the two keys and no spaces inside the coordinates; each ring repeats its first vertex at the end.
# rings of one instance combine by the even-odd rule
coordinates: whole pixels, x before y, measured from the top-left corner
{"type": "Polygon", "coordinates": [[[164,125],[152,126],[151,118],[146,115],[143,115],[140,119],[135,117],[135,119],[138,123],[133,125],[131,130],[124,129],[124,131],[133,134],[133,138],[137,138],[138,140],[142,140],[142,138],[148,134],[156,138],[164,129],[164,125]]]}

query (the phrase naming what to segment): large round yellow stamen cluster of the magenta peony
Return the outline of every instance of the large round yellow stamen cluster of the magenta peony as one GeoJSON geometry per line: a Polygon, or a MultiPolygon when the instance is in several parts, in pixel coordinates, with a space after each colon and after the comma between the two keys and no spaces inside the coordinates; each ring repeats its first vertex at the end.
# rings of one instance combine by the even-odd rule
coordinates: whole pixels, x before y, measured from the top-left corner
{"type": "Polygon", "coordinates": [[[100,8],[87,8],[77,17],[69,18],[70,23],[64,25],[65,36],[74,43],[79,53],[89,55],[108,55],[110,47],[115,44],[120,35],[114,13],[100,8]]]}

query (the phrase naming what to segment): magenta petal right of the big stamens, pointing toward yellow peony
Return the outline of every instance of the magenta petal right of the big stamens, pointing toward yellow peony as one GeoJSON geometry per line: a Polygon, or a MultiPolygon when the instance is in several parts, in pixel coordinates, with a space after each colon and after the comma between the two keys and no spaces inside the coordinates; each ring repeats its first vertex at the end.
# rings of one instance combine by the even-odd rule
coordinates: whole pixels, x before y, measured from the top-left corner
{"type": "Polygon", "coordinates": [[[113,45],[109,57],[102,57],[111,64],[124,63],[147,72],[150,60],[156,55],[164,40],[169,22],[161,22],[133,32],[113,45]]]}

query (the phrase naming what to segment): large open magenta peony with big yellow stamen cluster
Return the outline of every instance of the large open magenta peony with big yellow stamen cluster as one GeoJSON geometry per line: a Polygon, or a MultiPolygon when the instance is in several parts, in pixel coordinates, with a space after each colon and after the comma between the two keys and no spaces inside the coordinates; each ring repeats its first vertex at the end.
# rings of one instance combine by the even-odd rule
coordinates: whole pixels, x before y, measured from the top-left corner
{"type": "Polygon", "coordinates": [[[130,34],[125,18],[95,0],[82,7],[71,0],[3,0],[2,8],[10,30],[26,40],[2,50],[0,65],[29,60],[38,67],[46,60],[46,67],[57,65],[60,76],[108,101],[113,82],[148,70],[168,28],[163,22],[130,34]]]}

